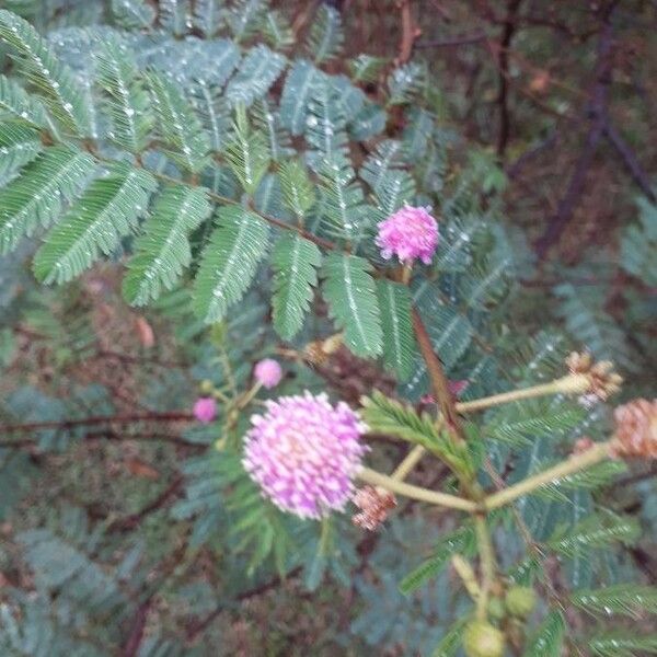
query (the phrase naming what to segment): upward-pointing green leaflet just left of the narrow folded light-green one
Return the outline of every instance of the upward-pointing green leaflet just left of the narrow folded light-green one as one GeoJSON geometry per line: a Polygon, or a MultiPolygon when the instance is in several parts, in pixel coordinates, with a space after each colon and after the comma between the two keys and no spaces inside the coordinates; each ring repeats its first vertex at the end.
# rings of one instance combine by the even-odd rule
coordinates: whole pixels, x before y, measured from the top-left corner
{"type": "Polygon", "coordinates": [[[183,169],[197,173],[207,164],[210,141],[182,90],[164,76],[146,73],[168,154],[183,169]]]}

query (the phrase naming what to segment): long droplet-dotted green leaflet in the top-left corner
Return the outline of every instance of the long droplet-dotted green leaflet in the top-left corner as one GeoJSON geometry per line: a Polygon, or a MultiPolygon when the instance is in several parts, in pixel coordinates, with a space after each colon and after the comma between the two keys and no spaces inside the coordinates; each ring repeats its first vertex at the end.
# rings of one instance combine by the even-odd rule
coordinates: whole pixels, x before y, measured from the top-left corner
{"type": "Polygon", "coordinates": [[[20,67],[53,113],[76,135],[90,131],[89,107],[71,70],[57,60],[37,32],[23,19],[0,10],[0,39],[20,54],[20,67]]]}

